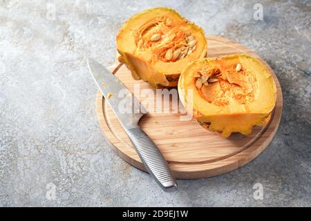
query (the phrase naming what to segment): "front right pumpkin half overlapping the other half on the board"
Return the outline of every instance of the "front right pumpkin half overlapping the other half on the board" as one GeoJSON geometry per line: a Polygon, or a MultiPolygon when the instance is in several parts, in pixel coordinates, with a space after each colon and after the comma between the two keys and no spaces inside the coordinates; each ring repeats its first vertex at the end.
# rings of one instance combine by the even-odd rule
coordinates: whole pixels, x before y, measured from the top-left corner
{"type": "Polygon", "coordinates": [[[272,75],[248,55],[198,59],[180,75],[180,100],[198,122],[222,137],[249,135],[270,120],[276,103],[272,75]]]}

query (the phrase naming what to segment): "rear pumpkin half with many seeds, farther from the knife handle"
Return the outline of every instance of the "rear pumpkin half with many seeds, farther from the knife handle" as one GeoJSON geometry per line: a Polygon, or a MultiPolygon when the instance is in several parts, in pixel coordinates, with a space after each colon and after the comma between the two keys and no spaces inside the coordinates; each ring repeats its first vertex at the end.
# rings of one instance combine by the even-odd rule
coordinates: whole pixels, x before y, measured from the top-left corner
{"type": "Polygon", "coordinates": [[[177,86],[182,70],[205,57],[207,40],[202,28],[169,8],[153,8],[134,15],[117,34],[119,61],[134,79],[153,88],[177,86]]]}

